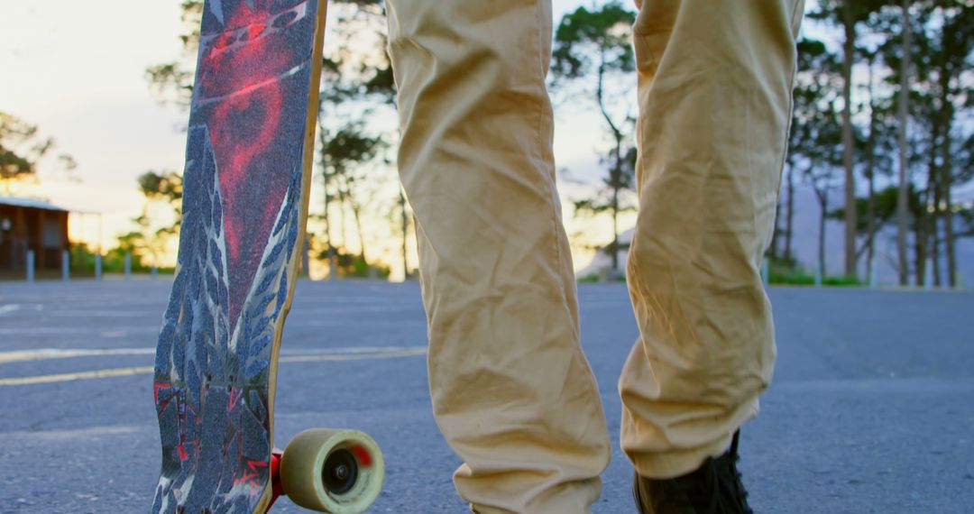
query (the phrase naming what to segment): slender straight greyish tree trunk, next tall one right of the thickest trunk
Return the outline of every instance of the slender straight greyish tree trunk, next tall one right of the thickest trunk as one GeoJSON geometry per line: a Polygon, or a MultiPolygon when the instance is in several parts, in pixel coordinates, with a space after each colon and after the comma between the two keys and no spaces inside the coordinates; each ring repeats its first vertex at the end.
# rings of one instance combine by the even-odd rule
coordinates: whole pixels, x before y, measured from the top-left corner
{"type": "Polygon", "coordinates": [[[899,191],[896,196],[896,251],[899,257],[900,285],[907,285],[910,275],[907,255],[908,201],[910,196],[910,167],[907,156],[907,122],[910,112],[910,0],[903,0],[903,55],[900,61],[900,112],[899,112],[899,191]]]}

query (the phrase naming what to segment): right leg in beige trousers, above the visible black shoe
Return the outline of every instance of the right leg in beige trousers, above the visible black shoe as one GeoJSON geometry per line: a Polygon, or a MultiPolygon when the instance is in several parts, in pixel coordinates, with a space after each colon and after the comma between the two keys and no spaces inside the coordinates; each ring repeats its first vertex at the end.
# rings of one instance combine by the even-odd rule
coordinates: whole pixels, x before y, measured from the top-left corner
{"type": "Polygon", "coordinates": [[[619,379],[621,445],[672,478],[723,454],[774,365],[759,273],[791,118],[803,0],[637,0],[640,329],[619,379]]]}

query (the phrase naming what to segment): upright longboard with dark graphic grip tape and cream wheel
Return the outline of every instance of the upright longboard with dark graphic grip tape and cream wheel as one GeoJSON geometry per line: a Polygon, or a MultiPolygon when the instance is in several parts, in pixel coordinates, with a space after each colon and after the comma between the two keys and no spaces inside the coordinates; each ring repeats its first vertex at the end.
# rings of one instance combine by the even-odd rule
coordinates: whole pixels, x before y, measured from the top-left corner
{"type": "Polygon", "coordinates": [[[325,0],[204,4],[176,275],[156,350],[163,455],[154,513],[263,513],[281,494],[278,478],[300,504],[360,512],[381,488],[381,454],[358,432],[311,430],[274,453],[325,8],[325,0]]]}

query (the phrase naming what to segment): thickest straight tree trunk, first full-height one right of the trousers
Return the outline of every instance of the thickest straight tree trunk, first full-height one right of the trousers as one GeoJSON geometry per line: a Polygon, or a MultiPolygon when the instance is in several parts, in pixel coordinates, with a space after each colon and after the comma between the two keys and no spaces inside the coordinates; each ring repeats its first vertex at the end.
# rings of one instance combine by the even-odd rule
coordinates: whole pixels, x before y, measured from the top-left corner
{"type": "Polygon", "coordinates": [[[855,45],[855,17],[852,2],[843,2],[845,45],[843,56],[843,165],[845,167],[845,275],[856,276],[855,169],[852,140],[852,60],[855,45]]]}

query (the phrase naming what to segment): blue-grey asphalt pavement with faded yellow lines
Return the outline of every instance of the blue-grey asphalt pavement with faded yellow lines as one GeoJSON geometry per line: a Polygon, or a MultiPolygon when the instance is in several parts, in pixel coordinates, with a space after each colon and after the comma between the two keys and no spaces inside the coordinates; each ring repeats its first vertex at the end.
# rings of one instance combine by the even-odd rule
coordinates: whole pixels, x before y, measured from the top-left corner
{"type": "MultiPolygon", "coordinates": [[[[150,374],[169,281],[0,282],[0,513],[147,512],[150,374]]],[[[742,432],[761,513],[974,512],[974,293],[770,290],[778,367],[742,432]]],[[[583,346],[616,451],[596,513],[633,513],[618,371],[636,338],[622,284],[582,284],[583,346]]],[[[436,429],[415,283],[301,281],[278,385],[279,446],[370,433],[388,465],[370,512],[462,513],[436,429]]],[[[274,512],[300,512],[286,499],[274,512]]]]}

